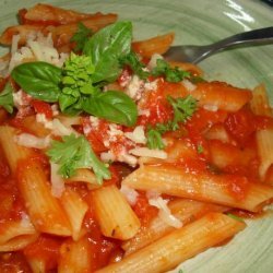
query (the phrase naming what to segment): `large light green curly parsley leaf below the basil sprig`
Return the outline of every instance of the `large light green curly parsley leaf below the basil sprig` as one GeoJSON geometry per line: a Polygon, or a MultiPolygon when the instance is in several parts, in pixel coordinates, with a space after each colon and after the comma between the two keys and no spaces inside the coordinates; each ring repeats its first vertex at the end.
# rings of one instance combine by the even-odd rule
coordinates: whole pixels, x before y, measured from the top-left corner
{"type": "Polygon", "coordinates": [[[52,141],[47,155],[50,161],[59,164],[59,174],[69,178],[75,174],[78,168],[91,168],[97,177],[98,183],[103,179],[110,178],[110,171],[93,152],[88,141],[83,136],[74,134],[66,135],[62,141],[52,141]]]}

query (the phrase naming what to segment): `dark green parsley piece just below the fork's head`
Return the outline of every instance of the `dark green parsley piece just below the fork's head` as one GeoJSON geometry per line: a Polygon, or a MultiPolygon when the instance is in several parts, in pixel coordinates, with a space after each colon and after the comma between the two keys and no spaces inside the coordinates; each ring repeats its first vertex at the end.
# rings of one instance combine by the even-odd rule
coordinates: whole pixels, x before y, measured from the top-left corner
{"type": "Polygon", "coordinates": [[[177,83],[185,78],[189,78],[191,73],[179,68],[170,68],[167,61],[157,59],[156,67],[152,70],[152,75],[164,76],[167,82],[177,83]]]}

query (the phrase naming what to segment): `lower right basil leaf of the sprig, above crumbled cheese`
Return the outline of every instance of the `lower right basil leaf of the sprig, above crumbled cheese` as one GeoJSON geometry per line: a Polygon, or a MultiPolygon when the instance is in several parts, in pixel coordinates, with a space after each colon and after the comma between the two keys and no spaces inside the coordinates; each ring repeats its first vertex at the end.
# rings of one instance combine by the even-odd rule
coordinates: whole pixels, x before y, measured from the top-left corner
{"type": "Polygon", "coordinates": [[[128,95],[119,91],[107,91],[87,97],[82,106],[84,111],[111,122],[128,127],[136,122],[136,105],[128,95]]]}

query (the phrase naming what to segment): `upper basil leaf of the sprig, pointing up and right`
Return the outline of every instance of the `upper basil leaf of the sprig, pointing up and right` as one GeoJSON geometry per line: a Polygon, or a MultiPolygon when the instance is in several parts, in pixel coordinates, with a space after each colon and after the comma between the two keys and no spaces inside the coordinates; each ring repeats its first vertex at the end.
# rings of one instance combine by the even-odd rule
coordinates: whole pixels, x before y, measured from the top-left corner
{"type": "Polygon", "coordinates": [[[132,23],[118,22],[95,33],[83,48],[95,64],[93,83],[114,82],[120,74],[119,59],[131,50],[132,23]]]}

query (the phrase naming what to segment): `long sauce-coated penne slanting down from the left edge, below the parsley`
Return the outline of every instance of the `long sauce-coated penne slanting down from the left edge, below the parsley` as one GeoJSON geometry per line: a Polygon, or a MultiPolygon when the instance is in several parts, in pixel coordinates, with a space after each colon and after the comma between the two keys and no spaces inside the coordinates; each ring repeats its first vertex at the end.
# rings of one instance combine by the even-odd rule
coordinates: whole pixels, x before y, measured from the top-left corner
{"type": "Polygon", "coordinates": [[[13,128],[0,127],[0,144],[12,171],[16,171],[17,186],[32,223],[39,232],[71,235],[70,223],[59,201],[51,195],[50,185],[38,157],[31,149],[19,146],[14,136],[13,128]]]}

